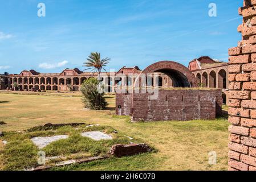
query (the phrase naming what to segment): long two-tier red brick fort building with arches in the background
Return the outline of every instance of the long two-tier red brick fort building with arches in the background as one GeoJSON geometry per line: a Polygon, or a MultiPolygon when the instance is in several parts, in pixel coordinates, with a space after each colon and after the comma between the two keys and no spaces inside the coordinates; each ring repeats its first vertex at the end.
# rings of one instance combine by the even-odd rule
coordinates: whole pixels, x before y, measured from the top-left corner
{"type": "MultiPolygon", "coordinates": [[[[139,67],[123,67],[118,72],[101,73],[101,82],[104,84],[105,92],[115,92],[116,86],[129,88],[133,85],[135,78],[141,73],[139,67]]],[[[34,70],[24,70],[19,74],[0,75],[3,82],[0,89],[18,90],[56,90],[56,91],[78,91],[84,80],[90,77],[97,78],[97,73],[82,72],[78,68],[64,69],[61,73],[39,73],[34,70]],[[16,84],[14,84],[16,83],[16,84]]],[[[154,86],[172,86],[172,80],[159,73],[159,77],[152,76],[149,81],[154,86]],[[156,79],[159,80],[156,82],[156,79]]]]}

